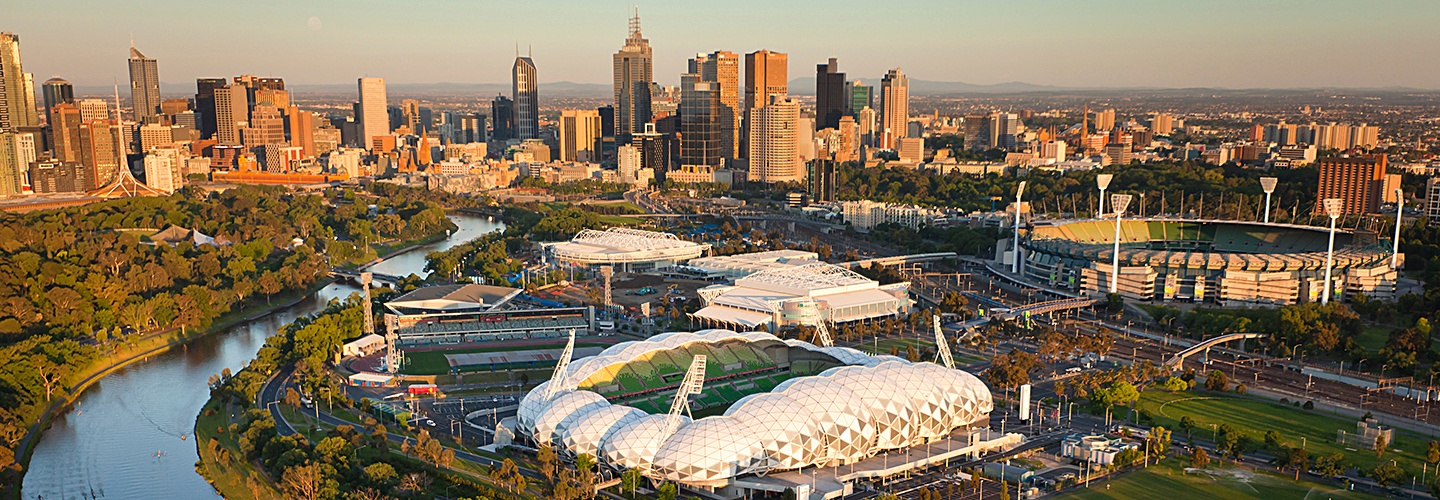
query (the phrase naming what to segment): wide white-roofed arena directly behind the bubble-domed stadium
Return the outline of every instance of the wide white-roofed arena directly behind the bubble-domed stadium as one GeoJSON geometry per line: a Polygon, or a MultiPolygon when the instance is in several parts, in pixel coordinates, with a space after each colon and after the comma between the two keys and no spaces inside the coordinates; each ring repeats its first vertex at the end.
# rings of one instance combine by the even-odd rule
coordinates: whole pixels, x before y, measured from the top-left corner
{"type": "Polygon", "coordinates": [[[909,282],[880,285],[825,262],[785,265],[711,285],[697,294],[704,307],[691,318],[706,326],[772,331],[796,324],[842,324],[910,311],[909,282]]]}

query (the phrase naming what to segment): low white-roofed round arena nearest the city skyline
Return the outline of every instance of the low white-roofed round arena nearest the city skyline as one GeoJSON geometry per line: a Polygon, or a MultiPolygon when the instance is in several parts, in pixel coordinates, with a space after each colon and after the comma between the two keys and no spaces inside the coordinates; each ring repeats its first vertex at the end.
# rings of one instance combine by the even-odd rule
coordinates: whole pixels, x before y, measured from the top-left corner
{"type": "Polygon", "coordinates": [[[611,228],[580,231],[567,242],[543,244],[543,248],[562,267],[613,265],[616,271],[644,272],[704,255],[710,245],[688,242],[667,232],[611,228]]]}

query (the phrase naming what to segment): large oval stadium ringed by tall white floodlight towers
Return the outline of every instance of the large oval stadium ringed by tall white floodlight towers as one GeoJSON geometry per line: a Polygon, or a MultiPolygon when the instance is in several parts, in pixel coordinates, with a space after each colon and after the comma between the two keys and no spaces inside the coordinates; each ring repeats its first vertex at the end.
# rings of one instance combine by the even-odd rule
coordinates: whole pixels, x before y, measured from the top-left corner
{"type": "MultiPolygon", "coordinates": [[[[1132,300],[1284,305],[1319,301],[1328,228],[1195,219],[1120,222],[1117,293],[1132,300]]],[[[1080,294],[1109,291],[1113,220],[1037,220],[1022,233],[1022,274],[1080,294]]],[[[1397,272],[1374,233],[1336,231],[1333,293],[1388,298],[1397,272]]]]}

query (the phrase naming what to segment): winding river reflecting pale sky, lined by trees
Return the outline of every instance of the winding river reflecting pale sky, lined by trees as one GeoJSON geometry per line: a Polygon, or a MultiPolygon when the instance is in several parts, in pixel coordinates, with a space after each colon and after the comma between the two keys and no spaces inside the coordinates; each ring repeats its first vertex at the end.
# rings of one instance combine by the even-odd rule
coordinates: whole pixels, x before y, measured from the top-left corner
{"type": "MultiPolygon", "coordinates": [[[[484,216],[452,215],[459,231],[372,267],[374,272],[425,275],[425,254],[503,229],[484,216]]],[[[239,370],[265,339],[295,317],[315,313],[330,298],[357,287],[336,282],[304,301],[255,321],[190,341],[130,365],[89,386],[45,431],[23,499],[215,499],[215,488],[194,471],[194,418],[209,399],[210,375],[239,370]]]]}

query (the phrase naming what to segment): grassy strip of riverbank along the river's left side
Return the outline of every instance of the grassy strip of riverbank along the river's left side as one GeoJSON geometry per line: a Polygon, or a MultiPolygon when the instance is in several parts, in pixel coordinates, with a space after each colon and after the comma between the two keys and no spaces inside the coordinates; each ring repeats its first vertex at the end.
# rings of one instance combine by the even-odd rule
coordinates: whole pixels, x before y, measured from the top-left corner
{"type": "Polygon", "coordinates": [[[49,429],[56,418],[68,412],[75,401],[79,399],[94,383],[111,373],[115,373],[117,370],[124,369],[125,366],[166,353],[170,349],[184,346],[186,343],[215,333],[226,331],[242,323],[259,320],[274,314],[275,311],[294,307],[321,288],[328,287],[331,282],[333,281],[330,280],[317,281],[307,290],[279,294],[268,304],[255,304],[238,311],[225,313],[207,329],[190,331],[184,331],[184,329],[160,330],[147,334],[143,339],[137,339],[127,346],[117,346],[115,352],[96,359],[94,363],[76,373],[76,376],[81,378],[81,382],[75,383],[69,390],[60,393],[59,398],[52,401],[36,422],[27,428],[24,437],[20,438],[20,442],[16,445],[16,464],[20,465],[20,470],[14,474],[14,484],[7,487],[4,499],[20,499],[22,484],[24,483],[23,478],[30,468],[30,457],[35,454],[35,447],[39,445],[40,439],[45,437],[45,431],[49,429]]]}

